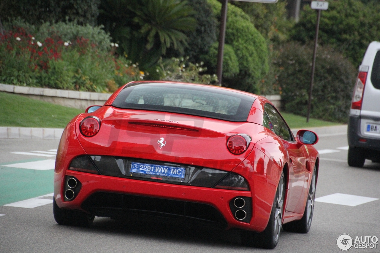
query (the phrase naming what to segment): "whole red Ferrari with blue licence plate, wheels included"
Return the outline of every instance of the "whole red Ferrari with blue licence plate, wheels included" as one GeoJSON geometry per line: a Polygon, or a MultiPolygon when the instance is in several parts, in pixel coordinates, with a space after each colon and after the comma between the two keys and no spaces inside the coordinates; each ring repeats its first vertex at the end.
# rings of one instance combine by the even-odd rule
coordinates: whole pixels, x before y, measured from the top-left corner
{"type": "Polygon", "coordinates": [[[95,216],[241,229],[274,248],[281,226],[307,233],[317,134],[262,96],[200,84],[130,82],[68,123],[54,170],[54,218],[95,216]]]}

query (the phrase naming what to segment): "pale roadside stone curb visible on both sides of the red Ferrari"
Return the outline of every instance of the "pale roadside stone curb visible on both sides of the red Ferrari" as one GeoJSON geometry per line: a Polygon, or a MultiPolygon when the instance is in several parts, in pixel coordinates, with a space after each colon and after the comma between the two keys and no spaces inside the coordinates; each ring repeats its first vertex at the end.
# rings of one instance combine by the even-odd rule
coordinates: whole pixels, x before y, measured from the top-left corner
{"type": "MultiPolygon", "coordinates": [[[[347,134],[347,125],[322,126],[313,128],[303,128],[311,130],[320,137],[347,134]]],[[[299,129],[292,129],[294,135],[299,129]]],[[[59,140],[62,136],[63,128],[35,128],[35,127],[12,127],[0,126],[0,139],[43,139],[59,140]]]]}

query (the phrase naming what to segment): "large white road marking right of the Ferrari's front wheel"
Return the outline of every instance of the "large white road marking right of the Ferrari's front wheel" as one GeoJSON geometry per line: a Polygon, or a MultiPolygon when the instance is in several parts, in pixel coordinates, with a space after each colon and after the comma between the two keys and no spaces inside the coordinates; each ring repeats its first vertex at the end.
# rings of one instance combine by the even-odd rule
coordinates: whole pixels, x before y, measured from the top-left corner
{"type": "Polygon", "coordinates": [[[378,200],[376,198],[362,197],[343,193],[334,193],[320,198],[316,198],[317,202],[325,202],[330,204],[338,204],[344,206],[358,206],[367,202],[378,200]]]}

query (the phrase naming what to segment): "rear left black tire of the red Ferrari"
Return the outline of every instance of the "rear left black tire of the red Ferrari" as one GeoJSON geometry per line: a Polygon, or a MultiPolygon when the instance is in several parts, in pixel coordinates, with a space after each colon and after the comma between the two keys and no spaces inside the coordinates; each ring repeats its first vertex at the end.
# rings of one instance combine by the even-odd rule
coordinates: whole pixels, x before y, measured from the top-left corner
{"type": "Polygon", "coordinates": [[[71,226],[90,226],[95,218],[95,215],[80,210],[60,209],[53,198],[53,214],[54,220],[60,225],[71,226]]]}

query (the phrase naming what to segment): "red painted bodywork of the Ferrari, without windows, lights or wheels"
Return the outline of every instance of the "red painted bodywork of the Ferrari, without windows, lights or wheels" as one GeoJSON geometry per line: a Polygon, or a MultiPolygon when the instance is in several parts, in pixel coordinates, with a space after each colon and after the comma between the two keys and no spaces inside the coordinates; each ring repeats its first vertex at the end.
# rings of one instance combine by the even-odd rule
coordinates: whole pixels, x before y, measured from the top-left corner
{"type": "MultiPolygon", "coordinates": [[[[261,232],[268,224],[277,185],[283,172],[285,212],[282,223],[302,218],[313,169],[318,170],[319,154],[312,145],[302,144],[297,139],[285,141],[263,126],[264,105],[271,104],[269,100],[251,93],[213,87],[252,96],[255,99],[244,122],[112,106],[120,91],[128,85],[139,85],[138,83],[146,82],[132,82],[121,87],[101,108],[92,113],[80,114],[68,123],[60,140],[54,171],[54,199],[60,209],[76,209],[89,213],[88,209],[84,209],[83,203],[92,194],[127,194],[206,204],[221,214],[225,221],[224,229],[239,228],[261,232]],[[96,116],[101,122],[98,133],[92,137],[84,136],[80,129],[82,120],[88,116],[96,116]],[[154,123],[159,124],[158,126],[178,126],[179,129],[160,128],[152,125],[154,123]],[[192,131],[181,130],[182,128],[192,131]],[[252,137],[247,150],[239,155],[231,153],[226,145],[228,139],[236,134],[248,134],[252,137]],[[165,139],[165,147],[160,147],[160,138],[165,139]],[[154,177],[152,180],[115,177],[69,169],[73,159],[81,155],[165,161],[170,164],[233,172],[246,180],[249,190],[199,187],[166,182],[159,178],[155,180],[154,177]],[[65,201],[64,197],[67,176],[75,177],[81,184],[72,201],[65,201]],[[249,221],[237,220],[231,210],[231,200],[237,196],[251,199],[249,208],[252,213],[249,221]]],[[[154,83],[159,85],[173,82],[154,83]]],[[[105,213],[100,216],[110,216],[106,215],[107,212],[98,210],[99,213],[105,213]]]]}

